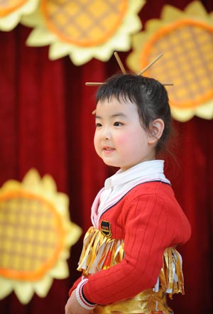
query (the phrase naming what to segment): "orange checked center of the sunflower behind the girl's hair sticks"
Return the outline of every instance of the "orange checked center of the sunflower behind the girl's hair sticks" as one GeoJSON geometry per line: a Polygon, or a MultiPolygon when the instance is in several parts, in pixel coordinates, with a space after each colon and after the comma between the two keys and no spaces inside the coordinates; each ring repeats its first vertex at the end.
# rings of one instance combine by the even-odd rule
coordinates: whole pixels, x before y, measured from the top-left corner
{"type": "Polygon", "coordinates": [[[151,67],[148,76],[160,82],[173,82],[174,87],[169,89],[171,105],[197,107],[212,99],[212,27],[196,21],[176,23],[155,33],[146,52],[149,60],[163,53],[163,58],[151,67]]]}

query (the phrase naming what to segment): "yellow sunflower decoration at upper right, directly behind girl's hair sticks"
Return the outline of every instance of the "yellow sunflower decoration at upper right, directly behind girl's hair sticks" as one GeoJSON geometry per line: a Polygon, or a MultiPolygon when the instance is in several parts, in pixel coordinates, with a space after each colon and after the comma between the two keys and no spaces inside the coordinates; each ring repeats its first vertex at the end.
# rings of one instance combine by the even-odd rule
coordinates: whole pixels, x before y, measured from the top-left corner
{"type": "Polygon", "coordinates": [[[213,12],[199,1],[185,11],[166,5],[160,20],[146,23],[146,31],[133,36],[129,68],[141,68],[163,53],[144,75],[160,82],[173,82],[168,94],[175,119],[187,121],[194,115],[213,117],[213,12]]]}

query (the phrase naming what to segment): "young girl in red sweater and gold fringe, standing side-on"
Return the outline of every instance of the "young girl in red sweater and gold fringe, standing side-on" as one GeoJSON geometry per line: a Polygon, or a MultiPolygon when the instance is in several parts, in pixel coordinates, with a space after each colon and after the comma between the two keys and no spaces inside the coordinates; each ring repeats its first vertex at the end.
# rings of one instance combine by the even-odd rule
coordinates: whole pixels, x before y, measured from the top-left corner
{"type": "Polygon", "coordinates": [[[141,75],[114,75],[97,91],[94,147],[109,166],[92,205],[65,314],[173,313],[166,294],[184,293],[176,247],[190,224],[155,156],[170,134],[168,94],[141,75]]]}

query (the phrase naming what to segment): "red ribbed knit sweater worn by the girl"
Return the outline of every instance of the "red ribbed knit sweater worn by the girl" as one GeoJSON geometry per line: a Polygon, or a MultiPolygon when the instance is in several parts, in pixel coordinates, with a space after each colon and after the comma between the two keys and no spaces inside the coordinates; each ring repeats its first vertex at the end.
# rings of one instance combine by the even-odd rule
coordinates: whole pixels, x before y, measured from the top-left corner
{"type": "Polygon", "coordinates": [[[125,258],[89,276],[84,284],[84,297],[102,305],[131,298],[155,286],[165,249],[184,244],[191,234],[172,188],[162,182],[137,185],[104,212],[99,228],[103,220],[105,224],[109,222],[112,239],[124,239],[125,258]]]}

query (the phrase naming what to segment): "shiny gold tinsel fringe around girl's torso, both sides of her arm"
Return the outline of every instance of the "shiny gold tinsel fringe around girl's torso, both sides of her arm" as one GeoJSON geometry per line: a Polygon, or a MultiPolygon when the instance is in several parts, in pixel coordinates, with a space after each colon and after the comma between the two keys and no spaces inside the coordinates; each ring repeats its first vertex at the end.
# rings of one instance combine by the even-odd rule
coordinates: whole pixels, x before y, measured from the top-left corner
{"type": "MultiPolygon", "coordinates": [[[[94,227],[90,227],[84,237],[84,245],[77,267],[84,276],[108,269],[124,259],[124,240],[111,239],[94,227]]],[[[158,282],[153,288],[155,293],[163,291],[172,298],[174,293],[184,292],[182,259],[178,251],[169,247],[163,254],[163,266],[158,282]]]]}

